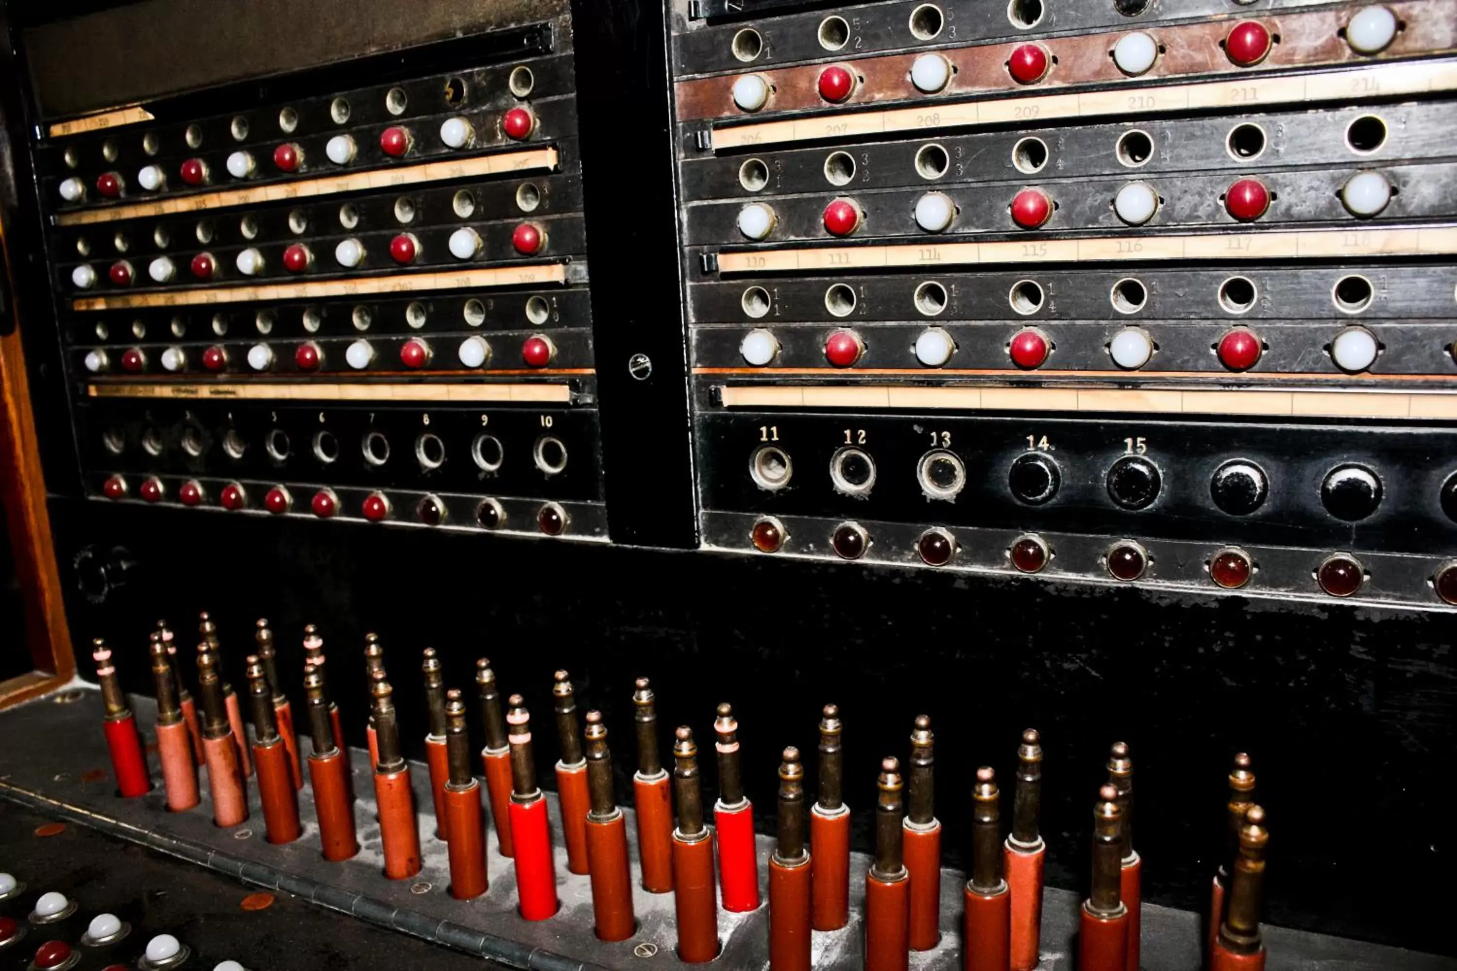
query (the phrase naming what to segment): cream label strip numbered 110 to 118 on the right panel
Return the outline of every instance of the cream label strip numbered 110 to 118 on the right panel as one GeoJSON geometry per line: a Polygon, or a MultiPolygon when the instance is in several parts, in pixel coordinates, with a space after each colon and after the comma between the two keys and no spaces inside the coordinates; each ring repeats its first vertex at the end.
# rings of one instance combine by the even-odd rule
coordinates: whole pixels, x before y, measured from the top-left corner
{"type": "Polygon", "coordinates": [[[883,269],[887,266],[975,266],[1148,259],[1317,259],[1323,256],[1428,256],[1457,253],[1457,229],[1307,230],[1050,239],[995,243],[905,243],[718,253],[721,274],[883,269]]]}

